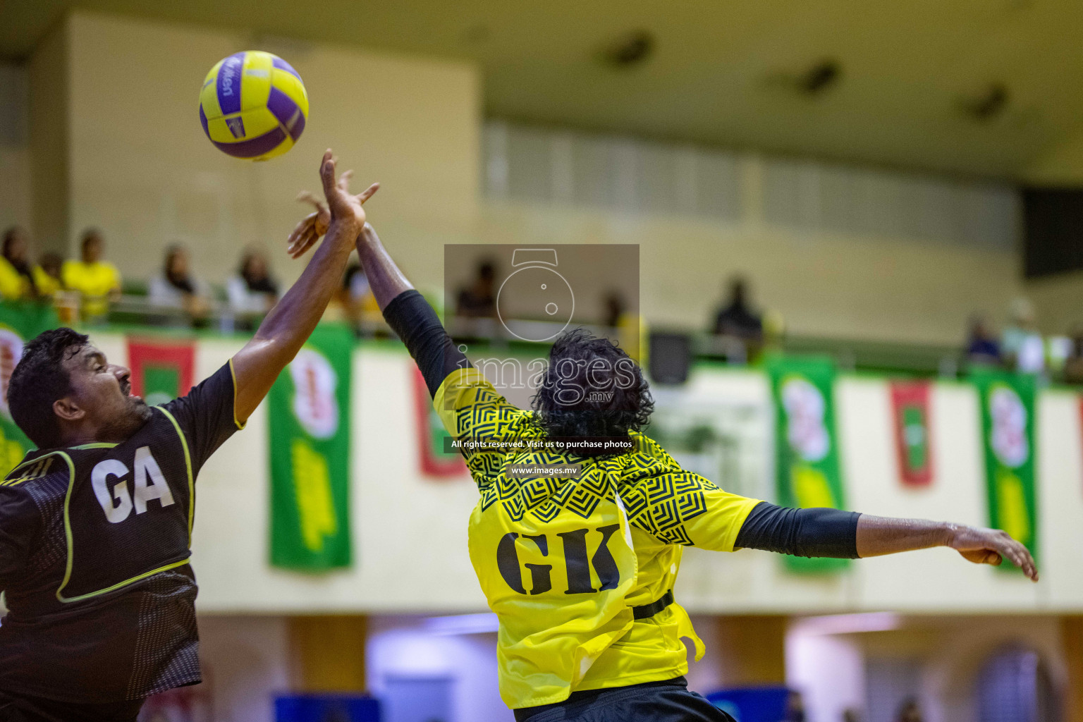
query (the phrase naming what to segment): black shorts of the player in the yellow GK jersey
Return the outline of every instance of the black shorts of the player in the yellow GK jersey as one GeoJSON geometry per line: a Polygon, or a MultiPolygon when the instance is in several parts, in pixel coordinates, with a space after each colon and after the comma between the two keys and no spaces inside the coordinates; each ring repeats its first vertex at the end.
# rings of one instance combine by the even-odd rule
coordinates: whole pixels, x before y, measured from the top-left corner
{"type": "Polygon", "coordinates": [[[734,722],[732,717],[689,692],[683,677],[573,692],[564,701],[514,712],[516,722],[734,722]]]}

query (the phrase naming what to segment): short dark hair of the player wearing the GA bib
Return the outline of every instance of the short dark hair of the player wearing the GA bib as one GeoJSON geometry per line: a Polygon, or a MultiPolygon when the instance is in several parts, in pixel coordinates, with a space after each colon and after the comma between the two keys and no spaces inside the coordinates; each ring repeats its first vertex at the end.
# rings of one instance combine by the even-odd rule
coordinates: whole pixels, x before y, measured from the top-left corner
{"type": "Polygon", "coordinates": [[[64,362],[87,345],[88,338],[70,328],[43,331],[23,347],[23,357],[8,382],[8,409],[38,448],[61,444],[61,425],[53,402],[71,393],[64,362]]]}

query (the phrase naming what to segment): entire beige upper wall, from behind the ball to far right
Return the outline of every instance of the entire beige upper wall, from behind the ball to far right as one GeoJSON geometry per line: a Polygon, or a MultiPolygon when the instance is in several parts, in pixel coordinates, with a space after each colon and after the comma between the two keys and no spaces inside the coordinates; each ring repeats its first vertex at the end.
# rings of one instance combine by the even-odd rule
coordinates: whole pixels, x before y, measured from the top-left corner
{"type": "MultiPolygon", "coordinates": [[[[271,249],[291,280],[301,266],[282,239],[304,210],[293,198],[315,188],[316,159],[332,146],[357,186],[384,184],[373,222],[430,290],[448,242],[635,242],[640,307],[655,324],[704,326],[743,271],[755,301],[797,334],[947,343],[970,313],[997,316],[1021,287],[1009,250],[810,234],[756,213],[726,224],[483,197],[483,92],[466,64],[75,12],[40,43],[29,76],[34,219],[23,222],[42,246],[58,238],[68,250],[83,226],[101,226],[130,277],[149,276],[164,247],[182,241],[209,281],[224,280],[249,244],[271,249]],[[216,60],[256,45],[299,69],[312,113],[299,148],[253,165],[207,143],[196,99],[216,60]]],[[[742,202],[756,207],[761,168],[743,172],[742,202]]]]}

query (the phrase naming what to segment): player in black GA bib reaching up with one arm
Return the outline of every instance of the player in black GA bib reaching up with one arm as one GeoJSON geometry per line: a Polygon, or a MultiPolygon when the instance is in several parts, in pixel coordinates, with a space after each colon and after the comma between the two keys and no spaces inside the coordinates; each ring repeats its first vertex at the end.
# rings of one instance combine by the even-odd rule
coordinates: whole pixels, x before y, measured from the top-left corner
{"type": "Polygon", "coordinates": [[[182,398],[148,407],[129,370],[71,329],[26,344],[8,403],[39,448],[0,482],[0,722],[134,720],[147,695],[200,681],[196,477],[312,333],[377,189],[350,195],[330,152],[319,173],[332,216],[319,250],[182,398]]]}

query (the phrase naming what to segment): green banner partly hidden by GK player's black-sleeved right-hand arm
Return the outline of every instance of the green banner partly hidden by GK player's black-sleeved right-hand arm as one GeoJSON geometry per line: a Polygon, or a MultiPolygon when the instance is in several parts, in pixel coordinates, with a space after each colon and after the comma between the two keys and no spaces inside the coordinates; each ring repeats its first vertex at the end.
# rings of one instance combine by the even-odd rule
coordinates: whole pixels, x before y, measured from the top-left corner
{"type": "MultiPolygon", "coordinates": [[[[775,480],[784,507],[846,508],[835,431],[835,366],[817,356],[772,356],[765,368],[771,381],[775,418],[775,480]]],[[[846,568],[845,559],[786,556],[794,572],[846,568]]]]}

